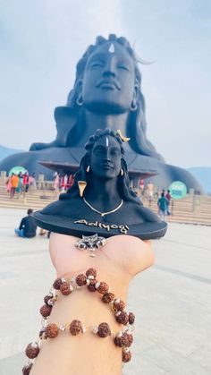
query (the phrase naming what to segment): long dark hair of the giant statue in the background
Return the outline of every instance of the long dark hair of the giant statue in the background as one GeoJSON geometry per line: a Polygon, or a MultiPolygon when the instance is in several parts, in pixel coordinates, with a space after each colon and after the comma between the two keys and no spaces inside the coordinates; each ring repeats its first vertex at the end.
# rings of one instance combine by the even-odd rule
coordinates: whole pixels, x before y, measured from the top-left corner
{"type": "MultiPolygon", "coordinates": [[[[146,116],[145,116],[145,99],[141,92],[141,74],[139,72],[138,64],[141,62],[135,55],[135,52],[131,48],[131,45],[129,41],[126,38],[120,37],[117,38],[116,35],[110,34],[109,37],[103,38],[101,36],[97,37],[96,44],[90,45],[84,55],[80,58],[80,61],[77,64],[76,67],[76,79],[74,82],[73,89],[70,91],[67,99],[67,106],[77,109],[77,111],[81,111],[80,106],[77,105],[77,98],[79,98],[79,85],[80,81],[83,80],[83,75],[85,72],[86,64],[89,58],[89,55],[91,55],[97,47],[104,45],[107,42],[116,42],[120,44],[122,47],[125,47],[125,49],[128,51],[129,55],[131,55],[131,58],[133,60],[134,69],[135,69],[135,82],[134,84],[137,84],[139,88],[138,93],[138,100],[137,100],[137,110],[131,111],[131,114],[129,116],[128,121],[128,129],[127,129],[127,135],[131,137],[133,140],[132,147],[135,150],[135,152],[157,158],[159,160],[164,161],[164,158],[159,155],[156,152],[155,147],[153,144],[148,141],[147,138],[147,122],[146,122],[146,116]]],[[[75,125],[77,126],[77,124],[75,125]]],[[[72,128],[73,132],[75,132],[75,126],[72,128]]],[[[74,137],[70,137],[74,139],[74,137]]]]}

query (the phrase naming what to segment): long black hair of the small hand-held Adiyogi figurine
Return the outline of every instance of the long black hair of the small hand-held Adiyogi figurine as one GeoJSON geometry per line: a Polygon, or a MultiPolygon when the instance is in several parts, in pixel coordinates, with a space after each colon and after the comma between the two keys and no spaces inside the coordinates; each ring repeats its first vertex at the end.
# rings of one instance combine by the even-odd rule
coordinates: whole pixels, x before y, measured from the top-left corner
{"type": "MultiPolygon", "coordinates": [[[[120,144],[120,149],[121,149],[121,168],[123,171],[123,175],[118,176],[118,192],[122,198],[122,200],[129,200],[138,204],[141,204],[139,198],[137,197],[136,193],[133,192],[130,186],[130,179],[128,175],[128,168],[126,161],[123,158],[124,150],[122,148],[122,140],[118,132],[114,132],[111,129],[97,129],[97,132],[92,135],[89,138],[89,141],[85,145],[85,149],[87,150],[86,154],[84,155],[83,158],[80,160],[80,169],[76,173],[75,178],[74,178],[74,183],[72,187],[67,191],[68,193],[70,192],[73,197],[79,197],[79,187],[78,187],[78,182],[79,181],[86,181],[88,185],[91,183],[91,173],[87,172],[87,168],[90,164],[90,155],[92,152],[92,149],[95,145],[95,143],[102,137],[105,137],[107,135],[110,135],[111,137],[114,137],[116,141],[120,144]]],[[[63,194],[65,195],[65,194],[63,194]]]]}

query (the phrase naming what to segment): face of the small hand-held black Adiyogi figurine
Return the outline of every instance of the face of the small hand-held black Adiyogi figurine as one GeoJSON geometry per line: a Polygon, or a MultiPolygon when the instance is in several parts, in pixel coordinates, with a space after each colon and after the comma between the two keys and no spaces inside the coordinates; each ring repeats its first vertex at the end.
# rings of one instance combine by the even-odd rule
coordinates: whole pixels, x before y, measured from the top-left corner
{"type": "Polygon", "coordinates": [[[115,178],[120,174],[122,152],[120,144],[110,135],[99,138],[91,152],[91,172],[101,178],[115,178]]]}

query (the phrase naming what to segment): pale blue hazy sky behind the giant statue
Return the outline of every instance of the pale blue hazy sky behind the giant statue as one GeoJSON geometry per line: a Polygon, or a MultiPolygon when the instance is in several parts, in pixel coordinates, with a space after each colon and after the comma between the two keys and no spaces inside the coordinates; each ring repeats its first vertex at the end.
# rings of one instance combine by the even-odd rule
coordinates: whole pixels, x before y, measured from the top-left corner
{"type": "Polygon", "coordinates": [[[97,35],[128,38],[148,139],[168,164],[211,166],[210,0],[1,0],[0,144],[55,139],[75,66],[97,35]]]}

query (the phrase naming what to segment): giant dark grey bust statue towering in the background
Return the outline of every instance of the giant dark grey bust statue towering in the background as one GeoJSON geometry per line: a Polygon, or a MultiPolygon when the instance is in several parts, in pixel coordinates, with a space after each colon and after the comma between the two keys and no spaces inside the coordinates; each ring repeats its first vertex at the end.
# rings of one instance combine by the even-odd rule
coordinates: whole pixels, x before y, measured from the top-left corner
{"type": "Polygon", "coordinates": [[[156,175],[158,188],[180,180],[188,189],[202,192],[189,172],[165,164],[147,138],[145,100],[141,92],[138,59],[126,38],[97,37],[77,64],[76,79],[65,107],[55,108],[57,135],[51,143],[33,143],[29,152],[15,154],[0,163],[0,170],[15,165],[31,173],[52,173],[39,161],[68,162],[79,166],[83,146],[97,129],[120,129],[130,138],[125,159],[130,173],[156,175]]]}

